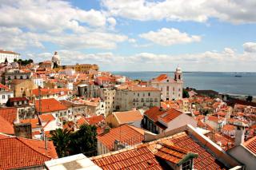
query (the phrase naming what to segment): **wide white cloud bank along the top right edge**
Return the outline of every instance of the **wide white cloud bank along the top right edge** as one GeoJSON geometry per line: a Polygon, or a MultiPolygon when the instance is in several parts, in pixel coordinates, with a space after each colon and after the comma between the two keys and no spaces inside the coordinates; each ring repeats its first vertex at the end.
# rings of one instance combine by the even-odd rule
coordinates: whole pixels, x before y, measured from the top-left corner
{"type": "Polygon", "coordinates": [[[206,22],[218,18],[236,24],[256,22],[254,0],[102,0],[102,6],[113,16],[140,21],[206,22]]]}

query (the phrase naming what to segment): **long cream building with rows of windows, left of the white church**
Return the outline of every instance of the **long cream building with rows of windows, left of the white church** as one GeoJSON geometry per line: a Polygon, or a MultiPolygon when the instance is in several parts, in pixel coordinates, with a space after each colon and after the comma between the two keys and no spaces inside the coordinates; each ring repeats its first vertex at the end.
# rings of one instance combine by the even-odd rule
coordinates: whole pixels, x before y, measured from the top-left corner
{"type": "Polygon", "coordinates": [[[114,110],[149,109],[160,107],[160,91],[153,87],[130,86],[117,89],[114,110]]]}

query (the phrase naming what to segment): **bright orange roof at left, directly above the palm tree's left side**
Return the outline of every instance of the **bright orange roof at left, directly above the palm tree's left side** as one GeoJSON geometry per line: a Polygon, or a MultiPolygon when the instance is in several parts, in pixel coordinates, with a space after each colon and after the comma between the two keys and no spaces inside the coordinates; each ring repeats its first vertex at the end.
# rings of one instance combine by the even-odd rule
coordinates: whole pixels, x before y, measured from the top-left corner
{"type": "MultiPolygon", "coordinates": [[[[50,113],[50,112],[67,109],[65,105],[62,105],[61,102],[57,101],[54,98],[42,99],[41,105],[42,105],[42,109],[41,109],[42,113],[50,113]]],[[[39,101],[38,100],[35,101],[35,109],[37,110],[37,112],[39,112],[39,101]]]]}

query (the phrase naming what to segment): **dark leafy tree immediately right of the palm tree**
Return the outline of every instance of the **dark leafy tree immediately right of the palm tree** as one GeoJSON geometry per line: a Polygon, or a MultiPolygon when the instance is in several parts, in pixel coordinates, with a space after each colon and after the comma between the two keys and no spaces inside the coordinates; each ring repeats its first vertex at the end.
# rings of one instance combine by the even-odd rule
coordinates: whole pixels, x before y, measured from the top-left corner
{"type": "Polygon", "coordinates": [[[94,125],[82,125],[72,134],[72,155],[83,153],[86,156],[97,154],[97,128],[94,125]]]}

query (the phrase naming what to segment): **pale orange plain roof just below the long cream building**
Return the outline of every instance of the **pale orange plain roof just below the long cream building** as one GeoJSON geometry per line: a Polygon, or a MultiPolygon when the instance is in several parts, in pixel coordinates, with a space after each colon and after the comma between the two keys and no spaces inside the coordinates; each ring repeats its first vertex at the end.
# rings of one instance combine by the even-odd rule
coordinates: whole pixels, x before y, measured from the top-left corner
{"type": "Polygon", "coordinates": [[[128,124],[130,122],[134,121],[142,121],[142,114],[138,110],[130,110],[126,112],[116,112],[113,113],[114,117],[117,118],[118,123],[120,125],[122,124],[128,124]]]}

